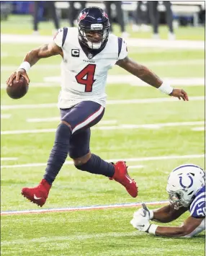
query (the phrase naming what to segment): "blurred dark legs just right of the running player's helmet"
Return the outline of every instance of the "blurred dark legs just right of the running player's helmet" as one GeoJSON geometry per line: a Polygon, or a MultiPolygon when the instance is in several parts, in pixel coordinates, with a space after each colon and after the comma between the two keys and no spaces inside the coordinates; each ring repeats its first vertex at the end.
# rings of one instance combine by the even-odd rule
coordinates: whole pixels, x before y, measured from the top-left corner
{"type": "Polygon", "coordinates": [[[104,1],[104,4],[106,6],[107,14],[109,17],[111,32],[113,32],[111,4],[115,4],[116,14],[117,14],[117,22],[120,25],[122,37],[128,37],[129,34],[125,31],[125,21],[124,21],[124,16],[123,16],[123,12],[122,12],[122,1],[104,1]]]}

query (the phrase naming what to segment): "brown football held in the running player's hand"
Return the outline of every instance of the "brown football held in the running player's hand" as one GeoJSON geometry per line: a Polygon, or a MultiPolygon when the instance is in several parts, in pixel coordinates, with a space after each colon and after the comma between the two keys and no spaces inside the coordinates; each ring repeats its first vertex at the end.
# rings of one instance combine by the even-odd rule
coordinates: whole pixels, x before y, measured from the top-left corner
{"type": "Polygon", "coordinates": [[[24,76],[19,77],[19,81],[16,78],[12,81],[12,86],[6,87],[6,92],[12,99],[20,99],[28,92],[29,85],[24,76]]]}

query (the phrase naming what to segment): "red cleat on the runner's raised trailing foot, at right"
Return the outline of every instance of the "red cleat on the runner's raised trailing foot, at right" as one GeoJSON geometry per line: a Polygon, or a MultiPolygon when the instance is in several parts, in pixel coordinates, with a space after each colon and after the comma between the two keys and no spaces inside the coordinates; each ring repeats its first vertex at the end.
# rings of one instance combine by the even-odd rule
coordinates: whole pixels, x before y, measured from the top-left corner
{"type": "Polygon", "coordinates": [[[131,179],[127,172],[127,166],[125,162],[119,161],[116,164],[113,164],[115,167],[115,174],[109,180],[116,180],[122,184],[127,192],[133,197],[138,196],[138,187],[135,180],[131,179]]]}

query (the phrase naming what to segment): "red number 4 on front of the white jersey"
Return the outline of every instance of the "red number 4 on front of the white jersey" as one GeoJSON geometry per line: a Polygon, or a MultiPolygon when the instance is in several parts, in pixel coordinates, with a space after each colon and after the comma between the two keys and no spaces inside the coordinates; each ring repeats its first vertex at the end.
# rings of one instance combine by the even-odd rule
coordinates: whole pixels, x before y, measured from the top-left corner
{"type": "Polygon", "coordinates": [[[77,74],[76,81],[79,84],[84,84],[85,85],[85,90],[84,92],[91,92],[92,91],[92,85],[94,84],[94,72],[96,69],[95,64],[88,64],[84,69],[82,69],[79,74],[77,74]],[[85,78],[86,76],[86,78],[85,78]]]}

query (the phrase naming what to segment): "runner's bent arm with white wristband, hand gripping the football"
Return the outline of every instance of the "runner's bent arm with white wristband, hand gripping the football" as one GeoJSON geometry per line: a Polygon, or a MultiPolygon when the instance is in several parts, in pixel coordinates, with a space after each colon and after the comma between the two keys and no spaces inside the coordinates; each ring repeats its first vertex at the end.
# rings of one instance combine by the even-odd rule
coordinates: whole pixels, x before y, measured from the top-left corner
{"type": "Polygon", "coordinates": [[[30,79],[27,76],[27,70],[30,69],[31,66],[35,65],[40,58],[48,58],[55,55],[61,55],[63,57],[63,50],[58,47],[55,43],[48,43],[46,45],[42,45],[39,48],[31,50],[24,58],[24,62],[19,69],[15,71],[9,79],[7,79],[6,84],[8,86],[12,86],[12,81],[16,77],[16,81],[19,80],[19,76],[24,76],[27,80],[27,83],[30,83],[30,79]]]}

